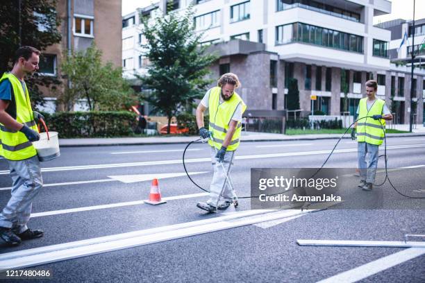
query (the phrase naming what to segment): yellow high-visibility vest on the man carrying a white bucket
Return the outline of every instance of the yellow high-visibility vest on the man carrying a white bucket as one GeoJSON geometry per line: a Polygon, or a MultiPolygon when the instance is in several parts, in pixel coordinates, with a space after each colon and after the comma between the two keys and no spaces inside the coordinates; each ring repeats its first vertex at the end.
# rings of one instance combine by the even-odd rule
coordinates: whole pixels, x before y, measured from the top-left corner
{"type": "MultiPolygon", "coordinates": [[[[25,124],[29,128],[38,132],[37,125],[33,117],[33,110],[29,99],[28,88],[22,88],[22,84],[13,74],[5,73],[0,79],[9,80],[13,89],[12,99],[16,105],[16,121],[25,124]]],[[[24,133],[10,130],[0,124],[0,139],[2,145],[2,155],[7,160],[26,160],[37,155],[37,151],[31,141],[28,141],[24,133]]]]}

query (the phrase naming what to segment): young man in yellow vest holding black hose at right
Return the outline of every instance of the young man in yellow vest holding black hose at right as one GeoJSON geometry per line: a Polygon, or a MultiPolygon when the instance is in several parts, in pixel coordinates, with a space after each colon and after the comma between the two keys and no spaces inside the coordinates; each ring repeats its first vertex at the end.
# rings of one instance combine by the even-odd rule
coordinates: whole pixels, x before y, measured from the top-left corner
{"type": "Polygon", "coordinates": [[[357,108],[357,119],[360,120],[351,130],[353,138],[357,129],[358,169],[360,169],[358,187],[364,191],[372,191],[378,167],[378,147],[385,137],[385,120],[392,120],[392,114],[385,105],[385,101],[375,97],[377,89],[376,80],[366,82],[367,97],[360,99],[357,108]],[[369,155],[368,160],[366,155],[369,155]]]}

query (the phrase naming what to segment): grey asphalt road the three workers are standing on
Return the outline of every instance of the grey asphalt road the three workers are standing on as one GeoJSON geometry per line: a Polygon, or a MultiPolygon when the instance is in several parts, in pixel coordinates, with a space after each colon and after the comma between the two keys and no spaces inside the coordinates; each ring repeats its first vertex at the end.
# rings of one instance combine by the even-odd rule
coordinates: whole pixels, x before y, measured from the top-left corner
{"type": "MultiPolygon", "coordinates": [[[[250,194],[251,168],[320,167],[335,141],[241,144],[231,173],[238,194],[250,194]]],[[[388,166],[396,169],[390,171],[394,186],[403,194],[425,196],[425,185],[419,182],[425,175],[425,139],[392,137],[387,139],[387,146],[388,166]],[[406,166],[417,168],[400,169],[406,166]]],[[[182,174],[184,147],[61,148],[58,159],[42,163],[46,186],[33,203],[29,223],[30,228],[43,229],[44,237],[16,248],[0,244],[0,268],[5,257],[15,255],[10,252],[37,254],[52,245],[156,229],[149,230],[151,238],[128,237],[117,244],[118,248],[100,239],[103,251],[92,252],[95,255],[56,261],[45,253],[40,262],[47,262],[49,257],[56,262],[31,268],[51,270],[53,282],[317,282],[344,272],[352,281],[424,282],[425,251],[421,254],[420,248],[421,255],[410,258],[416,251],[411,248],[299,246],[297,239],[403,241],[405,234],[425,234],[425,200],[404,198],[386,183],[372,192],[385,196],[381,209],[327,209],[293,218],[277,216],[274,221],[265,221],[272,214],[264,212],[258,214],[263,220],[254,219],[256,225],[246,225],[243,221],[251,221],[251,216],[241,218],[240,213],[259,213],[249,212],[247,199],[240,200],[238,208],[230,207],[219,214],[206,214],[196,207],[207,197],[200,196],[203,191],[182,174]],[[165,173],[180,176],[161,178],[165,173]],[[144,174],[151,175],[140,176],[144,174]],[[163,197],[170,198],[164,205],[142,203],[149,196],[153,176],[160,178],[163,197]],[[143,177],[147,180],[140,181],[143,177]],[[177,224],[190,228],[178,230],[177,224]],[[133,241],[133,246],[122,249],[133,241]]],[[[344,140],[326,167],[353,169],[356,157],[356,143],[344,140]]],[[[192,178],[208,189],[212,176],[208,145],[194,144],[186,158],[188,171],[199,173],[192,178]]],[[[383,164],[381,157],[378,166],[382,168],[383,164]]],[[[1,159],[0,207],[10,197],[7,170],[6,160],[1,159]]],[[[378,173],[376,182],[384,176],[378,173]]],[[[356,185],[353,194],[360,200],[372,196],[356,185]]],[[[83,246],[83,255],[92,247],[83,246]]],[[[69,249],[65,253],[73,252],[69,249]]],[[[347,281],[341,278],[333,280],[347,281]]]]}

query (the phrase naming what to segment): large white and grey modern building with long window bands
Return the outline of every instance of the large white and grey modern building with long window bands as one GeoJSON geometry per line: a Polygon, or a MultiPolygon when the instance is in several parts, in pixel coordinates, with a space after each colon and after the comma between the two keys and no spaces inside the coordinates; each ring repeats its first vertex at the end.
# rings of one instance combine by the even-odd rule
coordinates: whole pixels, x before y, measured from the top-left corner
{"type": "MultiPolygon", "coordinates": [[[[161,0],[155,8],[164,11],[167,2],[161,0]]],[[[208,50],[220,56],[211,66],[213,77],[227,71],[238,74],[242,81],[238,92],[250,110],[284,110],[288,83],[290,78],[295,78],[303,114],[311,113],[313,105],[313,110],[324,114],[339,116],[349,112],[355,116],[358,102],[365,96],[367,80],[378,81],[378,97],[388,105],[399,99],[391,97],[397,90],[391,87],[392,77],[398,78],[400,74],[408,80],[406,68],[395,68],[390,60],[392,31],[373,25],[373,17],[391,12],[390,1],[174,0],[172,3],[176,12],[192,5],[194,24],[203,33],[203,44],[210,44],[208,50]],[[313,103],[311,96],[317,97],[313,103]]],[[[139,67],[142,72],[143,65],[135,69],[139,67]]],[[[417,85],[422,83],[423,74],[419,71],[415,76],[417,85]]],[[[407,84],[400,85],[399,89],[406,93],[410,89],[406,87],[407,84]]],[[[422,88],[420,99],[419,87],[417,93],[419,105],[422,88]]],[[[398,110],[397,121],[408,123],[410,104],[399,104],[403,112],[398,110]]],[[[422,123],[422,113],[419,115],[422,109],[417,106],[418,123],[422,123]]]]}

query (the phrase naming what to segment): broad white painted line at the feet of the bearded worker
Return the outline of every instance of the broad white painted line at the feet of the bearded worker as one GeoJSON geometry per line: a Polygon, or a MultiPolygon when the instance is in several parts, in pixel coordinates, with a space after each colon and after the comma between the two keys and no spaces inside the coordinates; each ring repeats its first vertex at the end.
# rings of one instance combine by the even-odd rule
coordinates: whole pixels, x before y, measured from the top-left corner
{"type": "Polygon", "coordinates": [[[38,266],[40,264],[48,264],[66,259],[75,259],[103,252],[143,246],[149,243],[181,239],[309,212],[313,212],[313,210],[304,212],[299,210],[285,210],[279,212],[270,212],[267,210],[247,211],[228,216],[209,218],[202,221],[169,225],[162,228],[140,230],[109,237],[21,250],[18,252],[8,252],[0,255],[0,271],[12,268],[38,266]]]}

